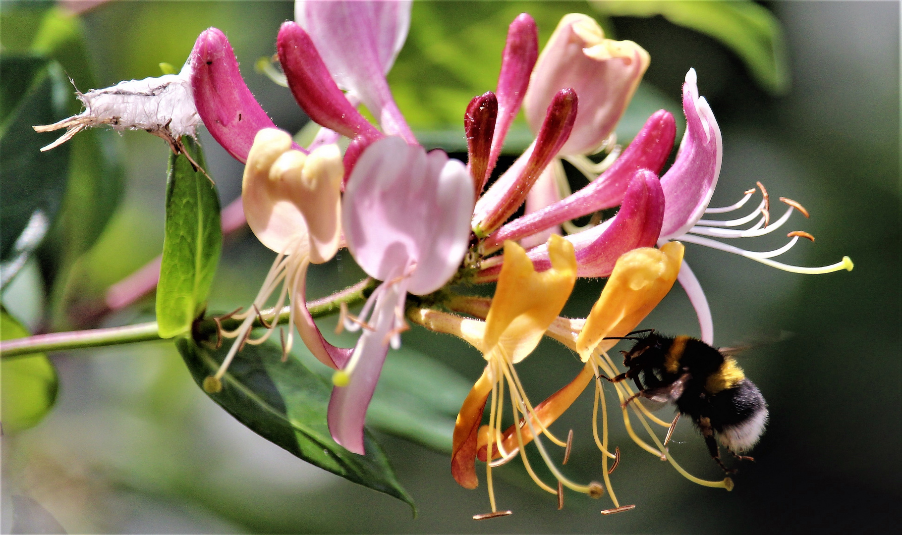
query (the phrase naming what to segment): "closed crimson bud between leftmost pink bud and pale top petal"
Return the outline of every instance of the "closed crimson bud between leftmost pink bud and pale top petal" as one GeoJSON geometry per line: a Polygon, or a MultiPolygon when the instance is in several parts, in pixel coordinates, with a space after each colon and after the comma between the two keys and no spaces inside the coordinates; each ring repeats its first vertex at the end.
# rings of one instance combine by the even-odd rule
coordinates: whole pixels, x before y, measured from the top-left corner
{"type": "Polygon", "coordinates": [[[291,94],[319,125],[346,137],[376,140],[382,137],[348,102],[329,74],[310,36],[297,23],[282,23],[276,42],[279,61],[291,94]]]}

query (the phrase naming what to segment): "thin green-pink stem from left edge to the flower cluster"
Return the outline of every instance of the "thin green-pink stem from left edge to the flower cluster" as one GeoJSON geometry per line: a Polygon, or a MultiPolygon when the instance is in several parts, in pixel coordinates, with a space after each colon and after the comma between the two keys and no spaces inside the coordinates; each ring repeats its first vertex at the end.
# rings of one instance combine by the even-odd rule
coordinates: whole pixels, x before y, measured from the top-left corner
{"type": "MultiPolygon", "coordinates": [[[[374,287],[375,281],[364,279],[354,284],[354,286],[337,291],[323,299],[308,301],[307,308],[313,318],[324,318],[338,312],[341,309],[341,303],[353,307],[364,302],[369,294],[373,292],[374,287]]],[[[271,316],[272,312],[272,309],[262,310],[262,316],[271,316]]],[[[279,323],[287,322],[289,314],[290,307],[282,308],[279,312],[279,323]]],[[[224,328],[234,328],[240,322],[237,319],[227,318],[221,320],[220,323],[224,328]],[[235,325],[231,325],[232,323],[235,323],[235,325]]],[[[253,327],[262,327],[260,318],[257,318],[253,327]]],[[[215,333],[216,320],[212,317],[201,319],[194,328],[194,335],[197,337],[208,337],[215,333]]],[[[119,344],[150,342],[161,339],[157,329],[157,322],[150,321],[124,327],[93,328],[5,340],[3,343],[0,343],[0,354],[3,355],[3,358],[11,358],[34,353],[82,349],[85,347],[117,346],[119,344]]]]}

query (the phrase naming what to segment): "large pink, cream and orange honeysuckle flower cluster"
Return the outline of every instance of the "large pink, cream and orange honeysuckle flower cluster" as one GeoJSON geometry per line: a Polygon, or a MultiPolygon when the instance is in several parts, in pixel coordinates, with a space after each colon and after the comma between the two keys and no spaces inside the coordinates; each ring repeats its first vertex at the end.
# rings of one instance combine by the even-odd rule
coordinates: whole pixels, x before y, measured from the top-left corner
{"type": "MultiPolygon", "coordinates": [[[[400,346],[408,321],[461,337],[482,352],[485,369],[460,410],[452,451],[452,475],[466,488],[478,484],[475,460],[485,462],[492,512],[474,518],[510,513],[496,506],[492,468],[514,457],[521,458],[539,487],[557,495],[559,507],[564,487],[595,498],[607,493],[613,507],[605,513],[632,507],[621,506],[612,489],[610,474],[620,453],[619,447],[609,446],[601,380],[620,374],[607,354],[615,338],[630,334],[677,280],[697,311],[702,339],[713,342],[704,291],[684,262],[680,242],[741,254],[789,272],[851,270],[848,257],[819,268],[770,260],[800,237],[813,241],[802,231],[790,232],[785,246],[769,252],[750,252],[712,239],[765,235],[783,226],[793,210],[805,217],[808,213],[795,200],[780,198],[787,211],[771,222],[769,195],[760,183],[732,206],[708,208],[723,143],[711,107],[699,96],[694,69],[683,86],[686,134],[667,171],[676,120],[666,110],[652,114],[628,146],[616,146],[614,127],[649,66],[649,54],[634,42],[606,39],[586,15],[566,15],[540,54],[535,22],[529,14],[514,19],[497,88],[474,97],[461,110],[466,163],[420,146],[386,81],[407,36],[410,2],[299,1],[295,15],[295,22],[282,24],[276,47],[292,95],[322,126],[306,148],[275,128],[244,84],[226,35],[216,28],[200,34],[185,68],[170,75],[176,78],[120,84],[156,88],[166,78],[166,88],[190,89],[178,98],[170,92],[151,96],[171,106],[153,111],[143,102],[143,115],[137,117],[133,96],[100,107],[84,100],[84,113],[58,125],[165,125],[176,134],[175,126],[194,125],[190,118],[197,116],[216,142],[246,164],[245,217],[254,235],[277,256],[251,306],[244,314],[232,315],[243,319],[241,325],[222,333],[235,343],[220,370],[204,383],[207,392],[222,388],[219,379],[244,344],[272,336],[279,316],[264,318],[261,309],[273,295],[276,310],[290,301],[290,323],[302,342],[335,370],[328,426],[336,442],[354,453],[365,453],[366,409],[388,349],[400,346]],[[375,125],[358,111],[360,105],[376,118],[375,125]],[[520,108],[536,138],[489,185],[520,108]],[[336,145],[342,136],[349,140],[344,154],[336,145]],[[599,151],[609,154],[597,163],[589,159],[599,151]],[[590,183],[570,193],[562,160],[590,183]],[[762,200],[750,214],[704,219],[706,214],[741,209],[757,190],[762,200]],[[524,215],[512,218],[524,203],[524,215]],[[584,227],[572,223],[616,207],[617,214],[606,221],[584,227]],[[569,234],[562,236],[564,230],[569,234]],[[361,332],[356,345],[348,348],[329,344],[305,306],[308,265],[327,262],[342,247],[367,275],[381,281],[359,314],[343,313],[341,326],[361,332]],[[608,281],[586,318],[562,318],[577,277],[608,281]],[[497,283],[492,299],[458,291],[483,282],[497,283]],[[267,328],[253,338],[258,318],[267,328]],[[533,405],[515,364],[529,356],[542,337],[575,351],[584,367],[571,383],[533,405]],[[603,454],[603,484],[571,481],[542,439],[544,435],[564,448],[561,464],[566,464],[572,431],[565,440],[548,428],[593,381],[592,429],[603,454]],[[515,423],[502,430],[505,389],[515,423]],[[482,425],[486,403],[488,424],[482,425]],[[530,466],[525,449],[530,441],[556,484],[543,481],[530,466]]],[[[86,97],[92,94],[118,95],[99,90],[86,97]]],[[[193,134],[186,128],[178,132],[193,134]]],[[[66,135],[71,134],[75,131],[66,135]]],[[[283,340],[286,357],[292,340],[291,334],[283,340]]],[[[636,392],[628,384],[613,383],[612,388],[621,402],[624,425],[640,447],[667,459],[696,483],[732,487],[729,478],[709,482],[687,474],[649,425],[650,420],[670,428],[675,422],[659,420],[644,405],[629,403],[636,392]],[[633,429],[630,410],[652,444],[633,429]]]]}

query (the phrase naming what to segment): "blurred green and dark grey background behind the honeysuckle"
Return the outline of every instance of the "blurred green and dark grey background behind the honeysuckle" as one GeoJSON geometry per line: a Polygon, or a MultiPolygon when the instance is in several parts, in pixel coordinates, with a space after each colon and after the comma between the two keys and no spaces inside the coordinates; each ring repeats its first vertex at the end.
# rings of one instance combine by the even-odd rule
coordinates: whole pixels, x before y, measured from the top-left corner
{"type": "MultiPolygon", "coordinates": [[[[27,24],[9,23],[9,15],[42,7],[4,2],[5,50],[33,32],[27,24]]],[[[555,498],[531,484],[515,462],[495,472],[499,504],[514,514],[477,523],[470,516],[488,510],[484,482],[466,491],[451,478],[445,454],[379,434],[418,504],[419,515],[411,519],[404,503],[309,466],[245,429],[200,392],[174,346],[161,342],[51,355],[60,374],[57,406],[37,427],[3,438],[4,532],[16,528],[9,514],[14,501],[17,526],[31,526],[31,532],[52,531],[47,514],[68,532],[109,533],[849,533],[897,527],[899,5],[766,4],[786,38],[791,87],[783,95],[774,89],[778,82],[769,86],[752,78],[747,63],[723,40],[662,16],[609,18],[608,7],[418,3],[391,81],[424,143],[454,151],[459,135],[444,126],[464,109],[453,103],[464,89],[470,90],[466,97],[494,87],[503,32],[521,11],[536,15],[542,42],[560,14],[582,11],[599,16],[617,39],[649,51],[643,88],[619,129],[623,141],[638,128],[634,117],[641,121],[661,106],[679,109],[682,79],[695,67],[700,92],[723,132],[723,171],[712,206],[732,204],[761,180],[772,197],[794,198],[812,215],[796,216],[791,229],[806,230],[817,242],[800,244],[787,262],[823,265],[849,255],[856,266],[853,272],[805,276],[687,245],[686,261],[711,301],[718,345],[793,334],[741,355],[771,416],[754,451],[756,462],[742,466],[732,493],[686,481],[634,446],[613,419],[612,443],[620,445],[623,458],[612,481],[621,503],[635,503],[635,511],[603,517],[606,498],[595,502],[571,494],[557,511],[555,498]],[[462,42],[469,63],[455,60],[454,47],[462,42]],[[411,80],[433,93],[415,94],[411,80]]],[[[95,78],[91,87],[159,76],[162,61],[178,67],[198,33],[213,25],[228,35],[248,86],[276,124],[294,132],[306,122],[288,89],[253,70],[255,60],[274,51],[279,24],[292,18],[291,3],[111,2],[82,16],[95,78]]],[[[161,250],[166,144],[144,133],[103,139],[121,143],[124,197],[97,244],[72,268],[69,300],[101,295],[161,250]]],[[[242,166],[206,133],[200,141],[224,203],[231,201],[240,191],[242,166]]],[[[210,309],[234,309],[253,299],[271,262],[272,254],[249,232],[227,238],[210,309]]],[[[313,298],[361,275],[346,253],[316,267],[309,281],[313,298]]],[[[565,314],[584,317],[600,289],[599,281],[580,281],[565,314]]],[[[41,276],[32,262],[5,289],[3,300],[32,329],[46,327],[48,318],[65,324],[59,308],[69,301],[52,293],[46,272],[41,276]]],[[[152,300],[144,300],[106,318],[105,325],[147,320],[152,309],[152,300]]],[[[698,328],[679,290],[645,326],[687,334],[698,328]]],[[[461,399],[483,367],[473,348],[451,337],[414,329],[403,343],[443,364],[447,392],[461,399]]],[[[389,362],[395,357],[400,359],[390,355],[389,362]]],[[[519,369],[538,402],[579,367],[569,351],[546,341],[519,369]]],[[[586,394],[554,428],[575,431],[566,472],[580,481],[600,477],[591,408],[586,394]]],[[[371,417],[379,415],[371,410],[371,417]]],[[[683,466],[695,475],[719,476],[686,422],[675,439],[671,452],[683,466]]]]}

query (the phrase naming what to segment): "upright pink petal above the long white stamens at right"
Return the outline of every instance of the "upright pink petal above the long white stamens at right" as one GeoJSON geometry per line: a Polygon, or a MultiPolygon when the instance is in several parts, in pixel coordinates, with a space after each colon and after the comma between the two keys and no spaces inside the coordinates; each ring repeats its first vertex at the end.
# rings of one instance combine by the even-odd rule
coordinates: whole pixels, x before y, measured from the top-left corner
{"type": "Polygon", "coordinates": [[[686,234],[704,215],[711,202],[717,177],[721,173],[723,142],[721,130],[714,119],[711,106],[698,96],[695,69],[686,73],[683,85],[683,111],[686,114],[686,134],[676,152],[676,161],[661,177],[661,187],[667,198],[661,237],[686,234]]]}

